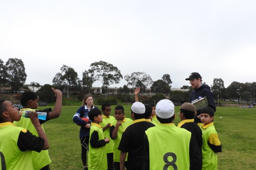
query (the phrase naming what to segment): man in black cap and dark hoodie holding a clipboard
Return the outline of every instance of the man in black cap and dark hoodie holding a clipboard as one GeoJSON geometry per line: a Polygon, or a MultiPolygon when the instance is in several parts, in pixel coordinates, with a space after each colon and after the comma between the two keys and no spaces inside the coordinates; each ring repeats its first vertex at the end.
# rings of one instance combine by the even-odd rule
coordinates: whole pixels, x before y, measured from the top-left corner
{"type": "MultiPolygon", "coordinates": [[[[210,87],[208,85],[202,85],[201,75],[197,72],[193,72],[189,75],[189,78],[186,78],[185,80],[189,80],[190,85],[194,89],[190,96],[190,103],[196,99],[199,100],[206,96],[207,100],[208,100],[209,107],[212,107],[214,112],[216,112],[216,106],[215,106],[213,94],[210,91],[210,87]]],[[[197,115],[200,115],[200,110],[196,110],[197,115]]]]}

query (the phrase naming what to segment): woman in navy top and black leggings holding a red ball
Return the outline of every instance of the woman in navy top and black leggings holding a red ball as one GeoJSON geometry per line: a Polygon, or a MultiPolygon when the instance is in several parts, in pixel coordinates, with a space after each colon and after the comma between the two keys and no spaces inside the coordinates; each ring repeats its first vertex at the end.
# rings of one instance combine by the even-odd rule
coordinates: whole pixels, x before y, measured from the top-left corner
{"type": "Polygon", "coordinates": [[[79,138],[80,138],[80,143],[82,147],[81,158],[84,165],[84,170],[88,170],[88,166],[86,165],[87,149],[88,149],[89,137],[90,137],[90,127],[92,122],[88,116],[88,113],[93,108],[98,108],[96,106],[93,106],[93,96],[92,94],[86,94],[84,96],[82,106],[77,109],[75,115],[73,116],[73,122],[81,126],[80,132],[79,132],[79,138]],[[81,118],[87,118],[89,122],[86,122],[81,118]]]}

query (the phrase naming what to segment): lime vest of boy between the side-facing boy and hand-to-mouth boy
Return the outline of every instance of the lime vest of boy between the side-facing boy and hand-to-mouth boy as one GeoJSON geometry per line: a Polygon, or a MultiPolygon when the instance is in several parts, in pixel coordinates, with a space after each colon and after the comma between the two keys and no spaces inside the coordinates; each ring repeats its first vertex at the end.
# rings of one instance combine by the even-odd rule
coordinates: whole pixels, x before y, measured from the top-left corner
{"type": "MultiPolygon", "coordinates": [[[[102,115],[103,119],[102,119],[102,123],[100,123],[100,125],[102,127],[105,127],[108,123],[111,123],[111,122],[114,122],[115,121],[115,117],[114,116],[105,116],[105,115],[102,115]]],[[[107,150],[107,153],[113,153],[113,140],[111,140],[111,137],[109,135],[109,128],[108,129],[105,129],[103,131],[104,133],[104,137],[105,138],[109,138],[110,139],[110,142],[106,145],[106,150],[107,150]]]]}

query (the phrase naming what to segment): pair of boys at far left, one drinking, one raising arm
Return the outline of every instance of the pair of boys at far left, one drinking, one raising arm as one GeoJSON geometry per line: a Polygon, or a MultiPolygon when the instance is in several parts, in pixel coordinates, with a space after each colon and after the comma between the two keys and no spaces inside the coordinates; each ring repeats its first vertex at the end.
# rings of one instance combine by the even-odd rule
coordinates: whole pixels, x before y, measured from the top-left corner
{"type": "Polygon", "coordinates": [[[52,162],[49,142],[44,133],[43,123],[57,118],[61,113],[62,92],[52,88],[56,97],[54,109],[37,110],[39,97],[36,92],[21,94],[20,111],[28,110],[29,118],[20,115],[12,102],[0,100],[0,169],[49,170],[52,162]],[[37,112],[46,113],[46,118],[38,119],[37,112]]]}

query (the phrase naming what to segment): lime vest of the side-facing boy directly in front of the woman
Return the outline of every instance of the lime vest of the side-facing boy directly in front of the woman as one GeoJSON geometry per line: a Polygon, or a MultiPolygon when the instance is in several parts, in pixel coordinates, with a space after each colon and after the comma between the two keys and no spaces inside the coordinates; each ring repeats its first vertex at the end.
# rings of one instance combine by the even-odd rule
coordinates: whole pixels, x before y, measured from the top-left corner
{"type": "MultiPolygon", "coordinates": [[[[99,140],[104,139],[104,134],[101,125],[96,123],[91,123],[90,128],[90,138],[92,136],[92,132],[97,131],[99,135],[99,140]]],[[[107,170],[108,169],[108,161],[107,161],[107,152],[106,146],[102,146],[99,148],[93,148],[89,142],[89,152],[88,152],[88,166],[90,170],[107,170]]]]}

